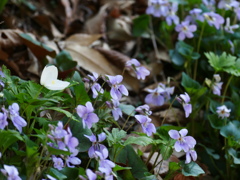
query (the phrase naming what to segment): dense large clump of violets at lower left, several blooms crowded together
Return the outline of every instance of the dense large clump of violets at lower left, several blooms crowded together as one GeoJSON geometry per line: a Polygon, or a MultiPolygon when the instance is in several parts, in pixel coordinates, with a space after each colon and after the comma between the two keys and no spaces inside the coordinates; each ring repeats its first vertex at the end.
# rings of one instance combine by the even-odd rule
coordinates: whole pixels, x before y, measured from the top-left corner
{"type": "Polygon", "coordinates": [[[50,134],[48,135],[51,142],[48,143],[49,146],[60,149],[63,151],[69,151],[71,154],[68,156],[60,155],[60,157],[52,156],[54,168],[61,170],[65,164],[68,167],[75,167],[74,165],[81,164],[81,160],[76,157],[78,154],[77,146],[79,144],[78,139],[72,136],[72,132],[68,127],[67,130],[64,129],[63,123],[58,122],[57,126],[49,125],[50,134]],[[64,161],[66,163],[64,163],[64,161]]]}

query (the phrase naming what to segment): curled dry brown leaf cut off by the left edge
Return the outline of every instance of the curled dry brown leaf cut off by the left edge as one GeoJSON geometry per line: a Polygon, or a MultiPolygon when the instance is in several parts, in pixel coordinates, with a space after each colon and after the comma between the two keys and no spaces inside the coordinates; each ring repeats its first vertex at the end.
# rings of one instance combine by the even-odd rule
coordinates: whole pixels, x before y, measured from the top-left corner
{"type": "Polygon", "coordinates": [[[19,33],[22,31],[16,29],[4,29],[0,30],[0,49],[8,49],[13,48],[19,45],[22,45],[21,38],[19,37],[19,33]]]}

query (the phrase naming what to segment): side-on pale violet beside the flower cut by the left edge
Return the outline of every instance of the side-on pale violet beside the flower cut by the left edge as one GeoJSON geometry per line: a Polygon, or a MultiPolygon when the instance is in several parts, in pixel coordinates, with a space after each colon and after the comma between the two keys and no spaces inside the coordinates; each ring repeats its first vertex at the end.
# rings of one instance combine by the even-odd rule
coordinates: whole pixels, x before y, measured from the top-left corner
{"type": "Polygon", "coordinates": [[[13,125],[19,132],[22,132],[22,127],[25,127],[27,125],[27,122],[19,115],[19,105],[17,103],[13,103],[8,107],[8,110],[13,125]]]}

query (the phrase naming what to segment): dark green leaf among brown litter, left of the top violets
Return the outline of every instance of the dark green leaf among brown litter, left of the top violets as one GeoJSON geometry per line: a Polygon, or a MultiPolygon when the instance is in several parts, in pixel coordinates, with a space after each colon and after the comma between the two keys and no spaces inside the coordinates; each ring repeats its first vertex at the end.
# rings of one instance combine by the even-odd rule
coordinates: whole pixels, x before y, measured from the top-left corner
{"type": "Polygon", "coordinates": [[[133,19],[133,36],[141,36],[144,33],[147,33],[149,29],[150,17],[147,14],[138,16],[133,19]]]}

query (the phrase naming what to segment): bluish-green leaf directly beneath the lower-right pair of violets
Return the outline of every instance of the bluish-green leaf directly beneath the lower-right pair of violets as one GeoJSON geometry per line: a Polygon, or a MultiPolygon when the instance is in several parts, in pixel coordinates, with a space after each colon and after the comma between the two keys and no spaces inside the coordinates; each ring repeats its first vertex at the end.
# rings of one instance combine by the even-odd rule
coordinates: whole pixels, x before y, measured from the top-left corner
{"type": "Polygon", "coordinates": [[[200,174],[204,174],[205,172],[203,171],[203,169],[194,161],[185,164],[185,162],[181,162],[181,166],[182,166],[182,174],[184,176],[194,176],[197,177],[200,174]]]}

